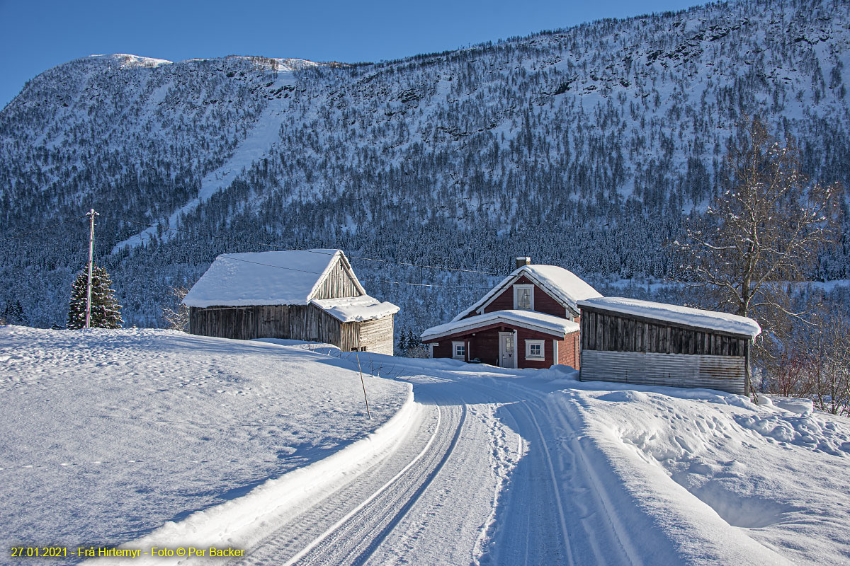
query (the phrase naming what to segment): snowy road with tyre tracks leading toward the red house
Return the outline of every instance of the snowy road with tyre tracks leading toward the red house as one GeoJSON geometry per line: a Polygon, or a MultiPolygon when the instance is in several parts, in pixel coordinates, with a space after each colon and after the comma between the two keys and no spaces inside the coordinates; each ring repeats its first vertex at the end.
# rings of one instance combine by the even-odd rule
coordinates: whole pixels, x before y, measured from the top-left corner
{"type": "Polygon", "coordinates": [[[410,378],[422,411],[395,451],[237,563],[642,563],[563,411],[515,380],[431,373],[410,378]]]}

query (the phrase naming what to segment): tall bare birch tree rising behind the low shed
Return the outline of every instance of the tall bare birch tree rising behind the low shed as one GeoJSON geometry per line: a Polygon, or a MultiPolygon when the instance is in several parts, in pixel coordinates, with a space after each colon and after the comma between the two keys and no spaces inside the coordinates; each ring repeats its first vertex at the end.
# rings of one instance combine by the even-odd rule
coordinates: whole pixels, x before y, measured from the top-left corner
{"type": "Polygon", "coordinates": [[[706,213],[674,243],[680,273],[702,302],[755,317],[765,337],[758,354],[770,356],[802,315],[791,309],[789,283],[807,278],[819,250],[836,240],[843,188],[809,182],[796,145],[779,143],[758,118],[740,124],[720,182],[706,213]]]}

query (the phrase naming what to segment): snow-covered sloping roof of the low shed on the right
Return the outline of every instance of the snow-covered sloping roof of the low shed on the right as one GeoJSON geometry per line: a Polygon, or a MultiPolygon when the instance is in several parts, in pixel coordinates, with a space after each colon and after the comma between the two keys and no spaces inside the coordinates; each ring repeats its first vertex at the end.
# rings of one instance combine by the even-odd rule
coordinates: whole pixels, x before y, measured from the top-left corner
{"type": "Polygon", "coordinates": [[[655,318],[690,327],[744,334],[751,338],[756,338],[762,332],[762,327],[751,318],[730,315],[726,312],[704,311],[689,306],[654,303],[649,300],[600,297],[598,299],[580,300],[579,306],[589,306],[600,311],[620,312],[635,317],[655,318]]]}

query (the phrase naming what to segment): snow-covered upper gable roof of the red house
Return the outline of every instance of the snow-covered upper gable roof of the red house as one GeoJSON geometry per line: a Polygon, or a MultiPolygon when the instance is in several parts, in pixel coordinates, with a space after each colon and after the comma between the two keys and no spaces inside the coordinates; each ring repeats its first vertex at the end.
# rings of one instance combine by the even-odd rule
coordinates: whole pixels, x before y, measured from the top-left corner
{"type": "Polygon", "coordinates": [[[501,283],[490,289],[490,292],[485,294],[477,303],[454,317],[452,322],[459,321],[470,312],[479,310],[479,308],[489,303],[490,300],[495,299],[498,294],[501,294],[507,289],[508,285],[523,276],[528,277],[538,287],[545,290],[554,300],[557,300],[564,306],[569,306],[575,312],[578,312],[576,301],[602,296],[602,294],[599,294],[596,289],[593,289],[581,277],[570,272],[570,270],[564,269],[564,267],[522,266],[502,279],[501,283]]]}

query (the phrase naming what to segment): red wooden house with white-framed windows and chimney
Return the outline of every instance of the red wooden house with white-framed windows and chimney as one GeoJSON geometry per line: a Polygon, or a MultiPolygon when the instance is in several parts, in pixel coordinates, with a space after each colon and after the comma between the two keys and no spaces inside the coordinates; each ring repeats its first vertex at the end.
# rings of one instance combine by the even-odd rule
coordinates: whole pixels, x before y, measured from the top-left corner
{"type": "Polygon", "coordinates": [[[579,367],[579,300],[601,297],[558,266],[517,269],[451,322],[428,328],[422,343],[432,357],[499,367],[579,367]]]}

